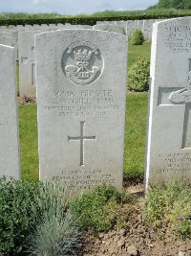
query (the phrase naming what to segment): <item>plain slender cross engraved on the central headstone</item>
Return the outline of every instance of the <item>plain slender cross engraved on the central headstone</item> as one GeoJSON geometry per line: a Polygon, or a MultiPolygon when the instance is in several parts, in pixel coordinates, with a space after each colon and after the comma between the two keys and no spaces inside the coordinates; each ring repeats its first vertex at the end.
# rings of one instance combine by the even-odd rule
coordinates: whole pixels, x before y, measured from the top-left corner
{"type": "Polygon", "coordinates": [[[80,143],[80,164],[79,166],[84,165],[84,142],[85,140],[96,140],[96,136],[84,136],[84,125],[85,121],[80,122],[80,135],[78,137],[68,136],[68,141],[79,141],[80,143]]]}

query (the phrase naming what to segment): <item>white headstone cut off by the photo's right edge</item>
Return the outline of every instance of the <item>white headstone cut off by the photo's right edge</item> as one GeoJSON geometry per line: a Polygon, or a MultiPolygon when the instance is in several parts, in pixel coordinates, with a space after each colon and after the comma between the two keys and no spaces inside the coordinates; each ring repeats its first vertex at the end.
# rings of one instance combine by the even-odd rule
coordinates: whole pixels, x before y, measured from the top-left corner
{"type": "Polygon", "coordinates": [[[191,179],[191,18],[154,25],[147,136],[149,181],[191,179]]]}

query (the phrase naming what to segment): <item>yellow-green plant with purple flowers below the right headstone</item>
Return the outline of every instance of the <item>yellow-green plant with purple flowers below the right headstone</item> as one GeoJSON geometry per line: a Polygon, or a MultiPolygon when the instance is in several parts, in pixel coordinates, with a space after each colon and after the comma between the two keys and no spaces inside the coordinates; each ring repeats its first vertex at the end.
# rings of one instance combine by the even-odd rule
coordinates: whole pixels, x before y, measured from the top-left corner
{"type": "Polygon", "coordinates": [[[146,196],[144,221],[191,238],[191,188],[183,181],[154,186],[146,196]]]}

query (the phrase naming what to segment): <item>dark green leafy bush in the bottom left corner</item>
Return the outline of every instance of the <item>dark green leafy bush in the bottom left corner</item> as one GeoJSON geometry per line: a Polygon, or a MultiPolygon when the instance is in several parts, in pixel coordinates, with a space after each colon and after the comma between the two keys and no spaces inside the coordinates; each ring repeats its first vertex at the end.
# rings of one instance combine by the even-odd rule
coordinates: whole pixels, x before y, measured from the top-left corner
{"type": "MultiPolygon", "coordinates": [[[[24,249],[38,220],[32,211],[41,183],[0,178],[0,252],[14,255],[24,249]]],[[[36,208],[36,205],[35,205],[36,208]]]]}

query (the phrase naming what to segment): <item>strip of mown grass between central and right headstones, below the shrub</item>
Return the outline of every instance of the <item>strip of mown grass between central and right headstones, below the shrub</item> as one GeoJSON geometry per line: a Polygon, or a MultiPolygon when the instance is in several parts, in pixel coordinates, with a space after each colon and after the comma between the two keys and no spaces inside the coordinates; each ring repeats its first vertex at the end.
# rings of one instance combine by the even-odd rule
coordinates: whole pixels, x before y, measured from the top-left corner
{"type": "Polygon", "coordinates": [[[147,93],[130,93],[127,96],[124,175],[142,176],[144,173],[147,93]]]}

